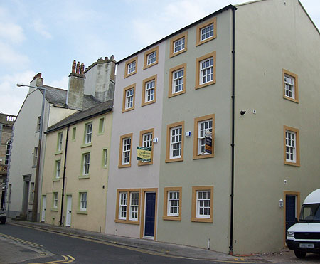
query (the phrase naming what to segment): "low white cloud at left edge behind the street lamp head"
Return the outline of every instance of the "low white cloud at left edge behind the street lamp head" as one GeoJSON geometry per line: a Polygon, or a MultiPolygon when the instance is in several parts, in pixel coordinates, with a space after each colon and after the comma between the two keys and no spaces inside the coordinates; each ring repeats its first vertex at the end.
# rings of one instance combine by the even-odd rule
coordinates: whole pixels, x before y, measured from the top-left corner
{"type": "Polygon", "coordinates": [[[26,70],[13,75],[3,75],[0,77],[0,112],[10,115],[17,115],[24,99],[28,93],[28,88],[18,88],[17,83],[28,85],[33,79],[35,73],[31,70],[26,70]]]}

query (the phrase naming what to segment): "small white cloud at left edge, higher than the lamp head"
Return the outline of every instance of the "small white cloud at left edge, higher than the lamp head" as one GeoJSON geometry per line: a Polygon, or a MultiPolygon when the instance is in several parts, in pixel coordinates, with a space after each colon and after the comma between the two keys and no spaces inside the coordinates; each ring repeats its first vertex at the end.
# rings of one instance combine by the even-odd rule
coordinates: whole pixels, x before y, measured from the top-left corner
{"type": "Polygon", "coordinates": [[[26,68],[29,63],[28,56],[16,52],[14,48],[1,41],[0,51],[0,64],[6,65],[6,67],[26,68]]]}

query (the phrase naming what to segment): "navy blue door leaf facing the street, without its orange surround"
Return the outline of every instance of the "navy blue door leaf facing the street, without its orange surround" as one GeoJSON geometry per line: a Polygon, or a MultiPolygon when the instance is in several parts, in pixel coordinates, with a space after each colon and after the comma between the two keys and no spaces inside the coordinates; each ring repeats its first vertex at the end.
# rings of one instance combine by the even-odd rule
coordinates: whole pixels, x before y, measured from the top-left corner
{"type": "Polygon", "coordinates": [[[144,236],[154,236],[155,216],[156,216],[156,193],[146,193],[144,236]]]}

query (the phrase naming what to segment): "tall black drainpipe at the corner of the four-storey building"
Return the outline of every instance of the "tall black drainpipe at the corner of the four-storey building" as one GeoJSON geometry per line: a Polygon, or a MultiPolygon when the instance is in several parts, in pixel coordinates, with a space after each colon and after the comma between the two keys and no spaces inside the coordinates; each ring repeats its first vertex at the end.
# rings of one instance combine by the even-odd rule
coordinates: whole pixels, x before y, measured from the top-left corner
{"type": "Polygon", "coordinates": [[[233,195],[235,185],[235,9],[233,9],[233,95],[232,106],[232,143],[231,143],[231,194],[230,194],[230,246],[229,253],[233,255],[233,195]]]}

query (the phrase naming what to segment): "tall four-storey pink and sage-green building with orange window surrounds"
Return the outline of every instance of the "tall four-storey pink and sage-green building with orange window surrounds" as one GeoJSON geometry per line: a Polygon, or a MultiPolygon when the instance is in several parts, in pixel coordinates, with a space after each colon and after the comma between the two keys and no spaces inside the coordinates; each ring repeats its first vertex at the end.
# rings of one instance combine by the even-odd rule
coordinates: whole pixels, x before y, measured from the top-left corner
{"type": "Polygon", "coordinates": [[[235,254],[283,248],[319,188],[319,58],[302,4],[262,0],[226,6],[120,60],[106,233],[150,238],[154,221],[156,241],[235,254]],[[156,108],[142,102],[154,75],[156,108]],[[139,134],[153,127],[154,164],[141,167],[139,134]]]}

